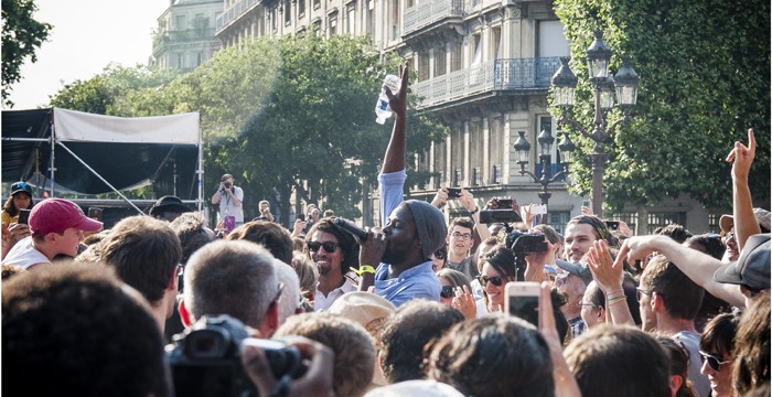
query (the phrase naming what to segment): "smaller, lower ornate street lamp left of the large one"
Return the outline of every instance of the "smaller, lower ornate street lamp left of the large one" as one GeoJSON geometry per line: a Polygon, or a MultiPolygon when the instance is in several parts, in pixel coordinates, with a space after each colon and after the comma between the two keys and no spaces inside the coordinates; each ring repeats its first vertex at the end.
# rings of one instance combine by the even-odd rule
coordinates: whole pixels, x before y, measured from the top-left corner
{"type": "MultiPolygon", "coordinates": [[[[536,176],[533,172],[527,171],[525,169],[525,164],[528,163],[528,155],[530,153],[530,143],[528,140],[525,138],[525,131],[518,131],[519,138],[515,141],[514,148],[515,151],[517,152],[517,163],[521,164],[521,175],[528,174],[534,180],[534,183],[538,183],[542,185],[542,193],[539,193],[539,198],[542,198],[542,204],[547,206],[547,211],[549,211],[549,197],[553,196],[551,193],[547,191],[547,186],[555,182],[560,175],[562,175],[566,171],[562,170],[551,178],[548,176],[547,174],[547,165],[550,163],[550,153],[553,151],[553,143],[555,142],[555,138],[553,138],[551,133],[547,130],[542,130],[539,136],[536,138],[536,140],[539,142],[539,162],[542,163],[542,175],[536,176]]],[[[566,137],[564,140],[558,144],[558,148],[560,149],[560,154],[562,154],[562,159],[566,161],[570,161],[571,159],[571,151],[573,151],[575,147],[573,143],[566,137]]],[[[543,223],[547,223],[547,217],[543,217],[543,223]]]]}

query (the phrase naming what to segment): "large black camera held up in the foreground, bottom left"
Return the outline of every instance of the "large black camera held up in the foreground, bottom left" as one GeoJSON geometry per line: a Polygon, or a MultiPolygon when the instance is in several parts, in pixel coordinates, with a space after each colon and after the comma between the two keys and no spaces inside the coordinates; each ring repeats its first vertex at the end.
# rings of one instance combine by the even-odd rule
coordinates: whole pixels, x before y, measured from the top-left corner
{"type": "Polygon", "coordinates": [[[178,396],[258,396],[242,367],[242,344],[266,353],[274,377],[302,376],[308,369],[300,351],[277,340],[249,337],[244,324],[227,315],[202,316],[173,336],[165,351],[178,396]]]}

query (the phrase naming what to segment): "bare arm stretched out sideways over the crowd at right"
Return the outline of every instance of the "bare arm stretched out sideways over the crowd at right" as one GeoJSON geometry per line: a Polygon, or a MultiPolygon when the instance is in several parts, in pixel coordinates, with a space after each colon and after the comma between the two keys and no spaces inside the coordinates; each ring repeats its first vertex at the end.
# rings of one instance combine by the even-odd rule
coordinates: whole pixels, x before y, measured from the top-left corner
{"type": "MultiPolygon", "coordinates": [[[[652,253],[658,253],[667,257],[691,281],[705,288],[714,297],[722,299],[738,308],[746,307],[746,300],[740,292],[740,287],[717,282],[714,273],[721,267],[721,261],[698,250],[685,247],[674,239],[663,235],[635,236],[624,240],[616,255],[614,266],[622,266],[626,258],[632,264],[635,260],[645,260],[652,253]]],[[[645,266],[645,262],[643,264],[645,266]]]]}

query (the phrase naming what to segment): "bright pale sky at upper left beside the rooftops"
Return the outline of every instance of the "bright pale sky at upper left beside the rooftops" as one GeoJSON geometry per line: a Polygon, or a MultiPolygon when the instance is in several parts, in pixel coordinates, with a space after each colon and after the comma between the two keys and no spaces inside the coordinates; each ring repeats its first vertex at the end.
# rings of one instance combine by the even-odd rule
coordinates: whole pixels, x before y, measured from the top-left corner
{"type": "Polygon", "coordinates": [[[53,25],[12,86],[13,110],[49,103],[65,84],[86,81],[110,63],[133,67],[152,54],[152,32],[170,0],[35,0],[34,19],[53,25]]]}

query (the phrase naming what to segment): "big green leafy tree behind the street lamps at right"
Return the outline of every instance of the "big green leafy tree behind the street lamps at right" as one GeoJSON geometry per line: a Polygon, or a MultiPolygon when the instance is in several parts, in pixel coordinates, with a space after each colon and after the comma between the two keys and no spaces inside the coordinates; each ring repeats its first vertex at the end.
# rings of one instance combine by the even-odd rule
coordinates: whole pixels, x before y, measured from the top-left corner
{"type": "MultiPolygon", "coordinates": [[[[614,72],[619,55],[630,55],[641,75],[633,122],[605,142],[610,208],[654,205],[682,192],[707,207],[728,208],[731,179],[723,159],[736,140],[747,140],[749,127],[759,143],[750,182],[758,200],[769,203],[769,1],[556,0],[555,11],[580,79],[573,111],[582,126],[592,120],[585,51],[593,30],[603,31],[614,52],[614,72]]],[[[591,142],[579,141],[589,153],[591,142]]],[[[587,159],[572,165],[572,190],[590,191],[590,167],[587,159]]]]}

